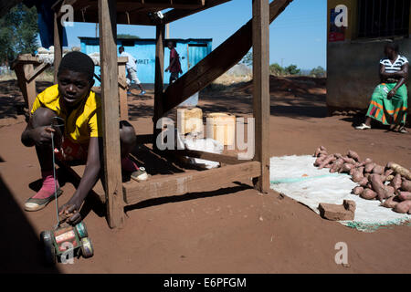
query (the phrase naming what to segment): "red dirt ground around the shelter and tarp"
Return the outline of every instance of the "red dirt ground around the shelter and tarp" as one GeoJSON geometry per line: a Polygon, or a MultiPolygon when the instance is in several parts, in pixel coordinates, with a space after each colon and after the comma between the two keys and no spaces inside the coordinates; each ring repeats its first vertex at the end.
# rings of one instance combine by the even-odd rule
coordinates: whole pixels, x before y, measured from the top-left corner
{"type": "MultiPolygon", "coordinates": [[[[353,130],[359,117],[326,117],[325,80],[271,77],[270,155],[358,151],[376,162],[411,167],[411,136],[385,129],[353,130]]],[[[39,84],[44,89],[47,84],[39,84]]],[[[1,272],[49,273],[409,273],[411,229],[401,225],[363,233],[321,217],[278,193],[261,195],[249,182],[216,192],[138,203],[127,208],[124,228],[111,230],[96,209],[85,222],[95,255],[74,265],[43,266],[38,235],[55,224],[54,203],[26,213],[23,203],[38,185],[34,149],[20,143],[26,123],[16,82],[0,83],[1,272]],[[17,108],[16,108],[17,107],[17,108]],[[348,245],[349,266],[336,265],[334,246],[348,245]]],[[[223,92],[204,90],[205,113],[251,112],[250,83],[223,92]]],[[[153,90],[130,96],[131,122],[138,134],[152,131],[153,90]]],[[[164,163],[165,164],[165,163],[164,163]]],[[[157,162],[148,172],[166,173],[157,162]]],[[[168,167],[168,166],[167,166],[168,167]]],[[[73,193],[63,186],[59,202],[73,193]]]]}

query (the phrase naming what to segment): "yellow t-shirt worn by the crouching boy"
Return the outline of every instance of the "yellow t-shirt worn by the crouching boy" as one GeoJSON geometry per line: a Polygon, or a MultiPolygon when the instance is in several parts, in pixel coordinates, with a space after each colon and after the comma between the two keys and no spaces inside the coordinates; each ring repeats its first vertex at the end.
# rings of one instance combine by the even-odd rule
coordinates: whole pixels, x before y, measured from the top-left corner
{"type": "Polygon", "coordinates": [[[37,95],[33,103],[33,114],[38,108],[48,108],[56,112],[58,117],[66,120],[65,137],[77,143],[86,143],[90,137],[101,137],[101,99],[90,90],[89,96],[84,99],[77,109],[67,116],[65,109],[61,109],[58,95],[58,84],[53,85],[37,95]]]}

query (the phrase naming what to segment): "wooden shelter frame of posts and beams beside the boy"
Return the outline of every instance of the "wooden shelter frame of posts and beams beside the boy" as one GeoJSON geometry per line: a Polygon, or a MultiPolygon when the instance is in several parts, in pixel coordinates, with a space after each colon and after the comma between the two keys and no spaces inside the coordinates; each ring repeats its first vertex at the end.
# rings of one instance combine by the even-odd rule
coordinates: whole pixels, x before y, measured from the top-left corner
{"type": "MultiPolygon", "coordinates": [[[[74,22],[99,23],[100,79],[102,99],[102,131],[104,149],[105,203],[107,222],[111,228],[124,224],[124,207],[146,199],[192,192],[215,190],[224,183],[253,178],[260,193],[269,192],[269,24],[292,0],[252,0],[252,19],[207,57],[163,89],[164,27],[165,24],[193,15],[229,0],[64,0],[54,5],[54,65],[62,57],[61,17],[63,5],[74,8],[74,22]],[[157,11],[173,8],[161,18],[157,11]],[[175,151],[223,162],[227,166],[202,172],[183,172],[158,176],[143,183],[122,183],[119,122],[128,116],[119,114],[119,67],[116,47],[117,24],[156,27],[155,83],[153,111],[153,147],[158,134],[157,120],[168,111],[204,89],[224,74],[253,48],[253,117],[255,119],[255,156],[251,161],[237,161],[235,157],[202,151],[175,151]],[[206,182],[206,183],[205,183],[206,182]],[[199,190],[198,185],[210,190],[199,190]]],[[[1,5],[1,3],[0,3],[1,5]]],[[[121,73],[121,78],[123,78],[121,73]]],[[[32,72],[28,74],[33,75],[32,72]]],[[[57,74],[57,71],[56,71],[57,74]]],[[[29,78],[30,79],[30,78],[29,78]]],[[[57,80],[57,77],[55,77],[57,80]]],[[[124,110],[124,104],[121,109],[124,110]]],[[[126,110],[127,111],[127,110],[126,110]]]]}

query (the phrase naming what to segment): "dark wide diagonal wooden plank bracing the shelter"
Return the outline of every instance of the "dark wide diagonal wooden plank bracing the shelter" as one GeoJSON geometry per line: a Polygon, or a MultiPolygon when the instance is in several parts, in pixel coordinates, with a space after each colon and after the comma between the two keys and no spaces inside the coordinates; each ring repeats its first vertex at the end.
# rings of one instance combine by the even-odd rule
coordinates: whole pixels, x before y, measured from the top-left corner
{"type": "MultiPolygon", "coordinates": [[[[275,0],[269,5],[270,20],[277,16],[292,0],[275,0]]],[[[216,78],[227,72],[244,57],[252,46],[252,21],[249,20],[237,32],[216,47],[210,54],[198,62],[181,78],[165,90],[163,94],[163,114],[191,97],[195,92],[204,89],[216,78]]]]}

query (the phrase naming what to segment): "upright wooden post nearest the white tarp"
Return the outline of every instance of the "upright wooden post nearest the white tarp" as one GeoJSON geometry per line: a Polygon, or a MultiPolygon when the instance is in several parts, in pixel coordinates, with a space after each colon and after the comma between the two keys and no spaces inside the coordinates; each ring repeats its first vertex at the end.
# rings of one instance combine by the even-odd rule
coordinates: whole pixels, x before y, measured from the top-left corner
{"type": "Polygon", "coordinates": [[[253,0],[253,110],[255,160],[261,162],[256,187],[269,192],[269,0],[253,0]]]}

